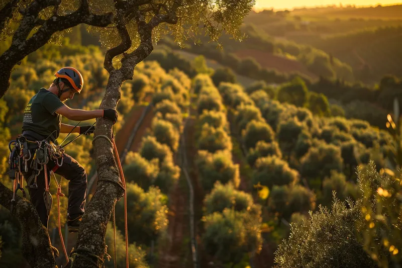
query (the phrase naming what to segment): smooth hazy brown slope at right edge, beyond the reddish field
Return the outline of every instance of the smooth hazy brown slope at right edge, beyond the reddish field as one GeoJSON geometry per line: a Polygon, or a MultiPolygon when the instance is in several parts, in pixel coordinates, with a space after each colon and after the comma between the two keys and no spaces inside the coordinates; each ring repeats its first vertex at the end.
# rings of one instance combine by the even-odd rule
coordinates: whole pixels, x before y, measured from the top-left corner
{"type": "Polygon", "coordinates": [[[311,45],[348,63],[357,79],[402,76],[402,27],[385,27],[316,40],[311,45]]]}

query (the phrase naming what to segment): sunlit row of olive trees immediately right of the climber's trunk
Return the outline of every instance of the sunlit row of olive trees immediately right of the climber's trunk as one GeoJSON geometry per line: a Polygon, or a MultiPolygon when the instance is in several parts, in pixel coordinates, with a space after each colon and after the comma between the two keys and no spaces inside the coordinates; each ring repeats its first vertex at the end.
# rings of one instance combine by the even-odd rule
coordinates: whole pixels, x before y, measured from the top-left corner
{"type": "MultiPolygon", "coordinates": [[[[183,113],[189,105],[191,80],[178,69],[166,73],[154,61],[137,66],[147,78],[137,76],[133,84],[149,81],[154,117],[143,136],[138,152],[129,152],[124,165],[127,184],[129,241],[147,250],[146,259],[153,263],[153,241],[163,244],[167,229],[168,194],[180,177],[175,164],[183,113]],[[162,239],[162,240],[161,240],[162,239]]],[[[146,85],[144,86],[146,87],[146,85]]],[[[117,226],[124,228],[123,203],[116,206],[117,226]]]]}

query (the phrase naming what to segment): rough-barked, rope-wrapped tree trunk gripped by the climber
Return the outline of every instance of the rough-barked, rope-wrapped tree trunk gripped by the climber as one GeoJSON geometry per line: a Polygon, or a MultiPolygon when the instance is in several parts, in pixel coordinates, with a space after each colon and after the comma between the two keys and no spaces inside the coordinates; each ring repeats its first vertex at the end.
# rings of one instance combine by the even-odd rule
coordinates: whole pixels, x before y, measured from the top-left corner
{"type": "MultiPolygon", "coordinates": [[[[122,82],[122,73],[119,70],[112,71],[100,109],[116,109],[121,96],[120,86],[122,82]]],[[[103,267],[108,222],[116,202],[124,194],[113,154],[113,146],[107,138],[99,137],[99,135],[105,135],[112,140],[112,122],[110,120],[104,118],[96,120],[93,150],[96,159],[98,183],[96,191],[83,215],[76,247],[70,254],[70,257],[74,259],[74,268],[103,267]]],[[[71,266],[72,263],[69,262],[66,268],[71,266]]]]}

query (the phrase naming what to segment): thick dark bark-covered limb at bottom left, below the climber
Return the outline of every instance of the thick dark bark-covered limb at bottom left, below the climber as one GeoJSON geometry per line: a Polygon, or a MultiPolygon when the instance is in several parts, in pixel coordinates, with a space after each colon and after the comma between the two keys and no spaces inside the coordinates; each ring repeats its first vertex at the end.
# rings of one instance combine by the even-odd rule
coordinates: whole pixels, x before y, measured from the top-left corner
{"type": "MultiPolygon", "coordinates": [[[[13,191],[0,183],[0,205],[10,209],[13,191]]],[[[53,251],[47,229],[42,225],[35,207],[25,198],[17,196],[14,216],[22,231],[22,251],[32,268],[54,268],[53,251]]]]}

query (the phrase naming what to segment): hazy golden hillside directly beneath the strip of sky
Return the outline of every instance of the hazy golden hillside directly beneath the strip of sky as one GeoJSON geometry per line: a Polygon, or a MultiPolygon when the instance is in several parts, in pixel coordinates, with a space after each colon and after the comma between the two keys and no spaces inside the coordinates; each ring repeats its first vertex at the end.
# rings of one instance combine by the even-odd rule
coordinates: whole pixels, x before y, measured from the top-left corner
{"type": "MultiPolygon", "coordinates": [[[[399,6],[396,6],[394,9],[398,8],[399,6]]],[[[367,28],[402,25],[402,13],[395,18],[383,17],[383,10],[379,8],[373,9],[378,13],[378,17],[353,16],[359,12],[364,14],[364,10],[366,9],[316,8],[291,12],[265,10],[260,13],[250,12],[244,22],[257,26],[259,30],[271,36],[284,37],[296,42],[367,28]],[[344,12],[351,15],[346,16],[344,12]]]]}

